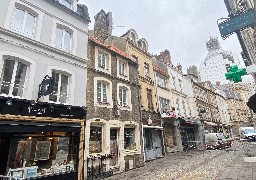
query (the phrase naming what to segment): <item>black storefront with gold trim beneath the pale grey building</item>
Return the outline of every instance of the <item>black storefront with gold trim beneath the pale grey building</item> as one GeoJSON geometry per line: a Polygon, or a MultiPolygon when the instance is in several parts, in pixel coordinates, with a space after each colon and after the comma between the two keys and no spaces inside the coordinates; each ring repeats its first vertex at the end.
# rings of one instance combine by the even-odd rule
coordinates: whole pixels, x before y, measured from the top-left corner
{"type": "Polygon", "coordinates": [[[81,179],[85,108],[0,98],[0,175],[81,179]]]}

